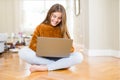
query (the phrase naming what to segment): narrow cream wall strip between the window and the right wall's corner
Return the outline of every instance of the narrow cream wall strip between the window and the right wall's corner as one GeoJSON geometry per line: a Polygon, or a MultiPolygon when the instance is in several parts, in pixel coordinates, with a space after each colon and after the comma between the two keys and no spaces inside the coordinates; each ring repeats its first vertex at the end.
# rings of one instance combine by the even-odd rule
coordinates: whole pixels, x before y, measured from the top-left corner
{"type": "Polygon", "coordinates": [[[80,15],[74,14],[73,33],[75,43],[84,48],[88,44],[88,0],[80,0],[80,15]]]}

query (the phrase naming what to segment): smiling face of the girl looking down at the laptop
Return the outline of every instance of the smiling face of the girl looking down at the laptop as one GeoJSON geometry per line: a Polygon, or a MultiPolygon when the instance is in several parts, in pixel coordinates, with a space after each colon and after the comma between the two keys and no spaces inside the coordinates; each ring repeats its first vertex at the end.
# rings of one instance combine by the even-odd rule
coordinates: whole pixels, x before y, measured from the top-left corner
{"type": "Polygon", "coordinates": [[[50,17],[50,24],[52,26],[57,26],[62,21],[62,13],[61,12],[53,12],[50,17]]]}

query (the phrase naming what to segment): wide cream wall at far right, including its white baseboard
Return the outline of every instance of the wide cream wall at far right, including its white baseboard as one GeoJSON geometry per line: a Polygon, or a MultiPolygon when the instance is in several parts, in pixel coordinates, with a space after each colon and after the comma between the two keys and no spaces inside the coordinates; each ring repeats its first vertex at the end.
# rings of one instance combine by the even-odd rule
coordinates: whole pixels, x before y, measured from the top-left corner
{"type": "Polygon", "coordinates": [[[119,54],[119,0],[89,0],[90,56],[119,54]]]}

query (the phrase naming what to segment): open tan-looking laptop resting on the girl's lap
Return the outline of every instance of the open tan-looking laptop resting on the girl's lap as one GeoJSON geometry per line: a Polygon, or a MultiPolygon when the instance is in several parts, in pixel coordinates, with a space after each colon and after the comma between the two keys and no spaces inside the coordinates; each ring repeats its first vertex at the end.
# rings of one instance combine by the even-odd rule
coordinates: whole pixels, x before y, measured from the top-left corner
{"type": "Polygon", "coordinates": [[[72,39],[38,37],[36,55],[41,57],[68,57],[72,39]]]}

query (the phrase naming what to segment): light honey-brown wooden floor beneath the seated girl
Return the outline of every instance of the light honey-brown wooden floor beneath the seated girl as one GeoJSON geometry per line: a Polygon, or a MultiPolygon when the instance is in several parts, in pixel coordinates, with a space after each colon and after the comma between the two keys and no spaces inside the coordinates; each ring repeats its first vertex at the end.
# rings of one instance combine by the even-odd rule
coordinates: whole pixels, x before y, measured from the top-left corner
{"type": "Polygon", "coordinates": [[[17,53],[0,56],[0,80],[120,80],[120,58],[85,57],[81,64],[67,70],[29,72],[30,64],[17,53]]]}

